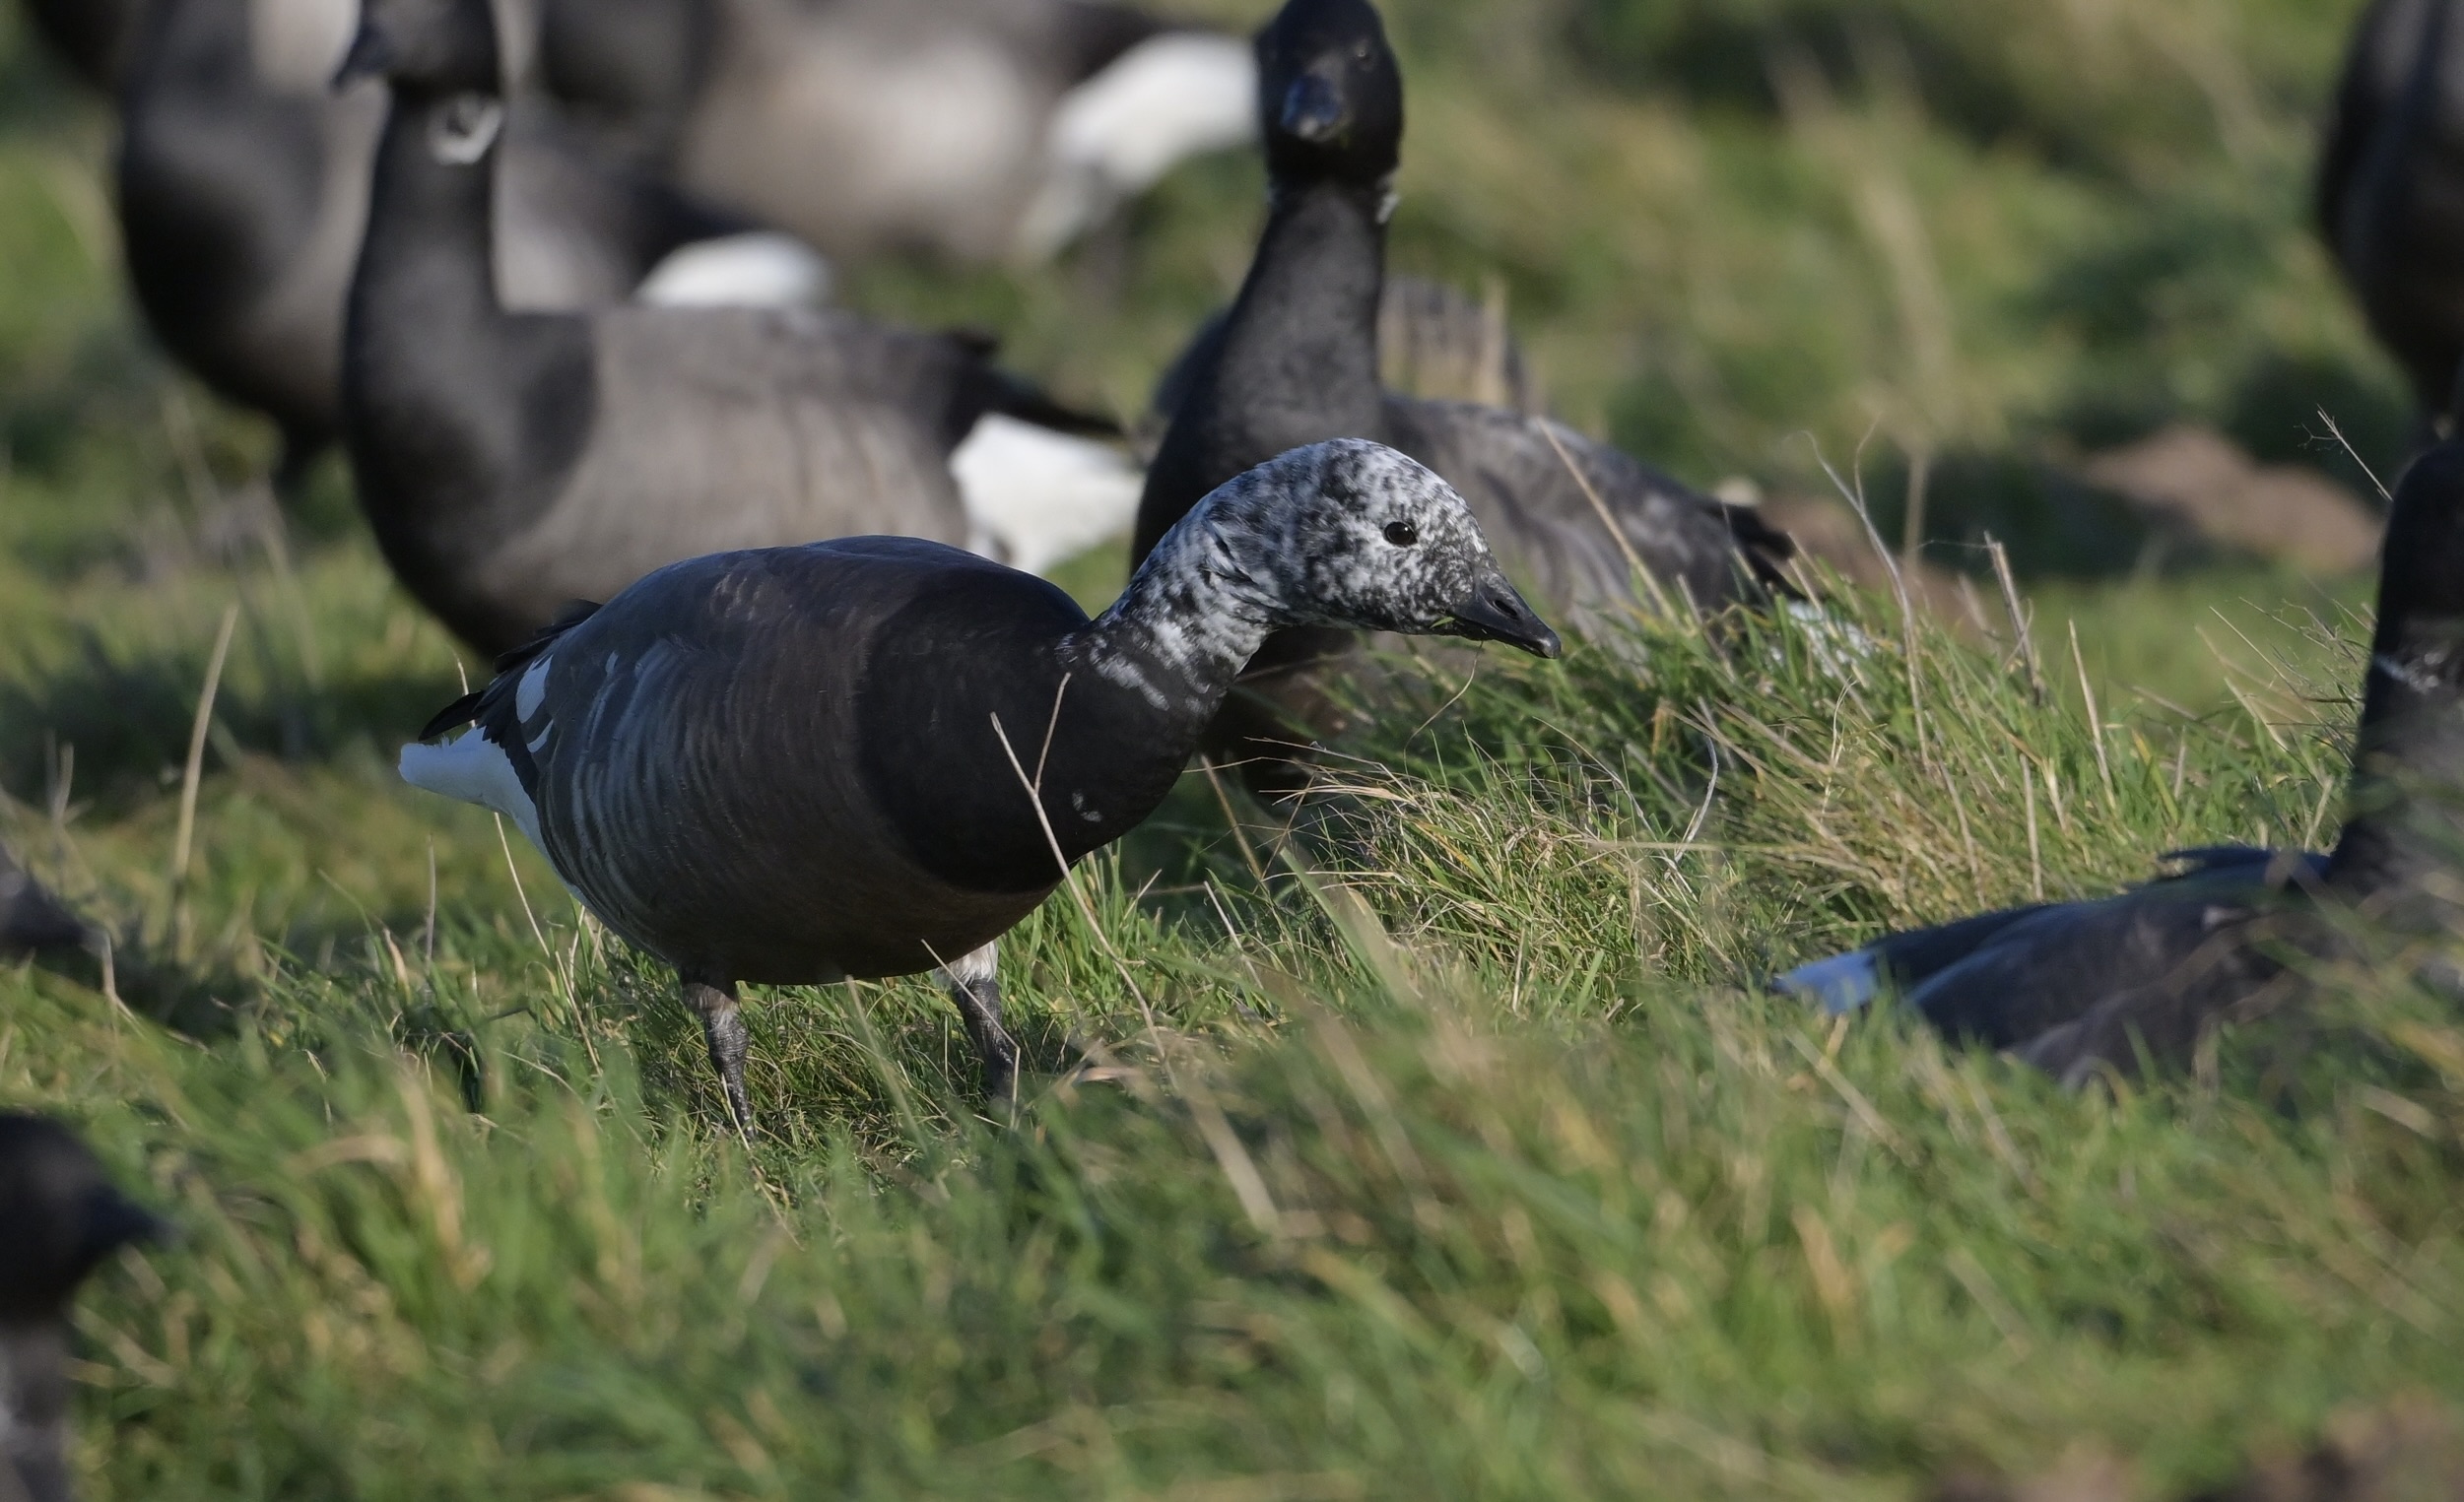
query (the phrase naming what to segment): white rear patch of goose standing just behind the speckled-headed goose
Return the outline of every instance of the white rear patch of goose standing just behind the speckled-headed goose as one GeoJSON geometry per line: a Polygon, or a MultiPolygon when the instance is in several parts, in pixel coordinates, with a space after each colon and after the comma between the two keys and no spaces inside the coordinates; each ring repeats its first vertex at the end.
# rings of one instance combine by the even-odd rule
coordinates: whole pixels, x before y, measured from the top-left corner
{"type": "Polygon", "coordinates": [[[1000,414],[976,424],[949,456],[949,473],[976,552],[1027,574],[1129,532],[1146,488],[1121,451],[1000,414]]]}

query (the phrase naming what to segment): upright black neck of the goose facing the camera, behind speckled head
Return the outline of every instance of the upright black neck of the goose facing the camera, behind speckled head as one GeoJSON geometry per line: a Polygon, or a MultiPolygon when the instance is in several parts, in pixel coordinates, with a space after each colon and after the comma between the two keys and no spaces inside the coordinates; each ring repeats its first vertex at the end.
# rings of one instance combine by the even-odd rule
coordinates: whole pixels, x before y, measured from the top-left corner
{"type": "Polygon", "coordinates": [[[1385,217],[1385,185],[1274,185],[1222,342],[1148,470],[1131,556],[1143,559],[1210,490],[1276,453],[1382,436],[1385,217]]]}

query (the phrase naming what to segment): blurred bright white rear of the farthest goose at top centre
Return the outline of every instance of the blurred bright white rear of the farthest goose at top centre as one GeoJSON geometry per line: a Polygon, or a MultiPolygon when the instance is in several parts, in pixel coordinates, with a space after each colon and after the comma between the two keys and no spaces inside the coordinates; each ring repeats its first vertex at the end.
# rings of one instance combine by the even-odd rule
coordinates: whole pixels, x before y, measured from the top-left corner
{"type": "Polygon", "coordinates": [[[1018,227],[1042,261],[1183,158],[1257,140],[1257,57],[1207,32],[1148,37],[1072,89],[1045,135],[1050,175],[1018,227]]]}

